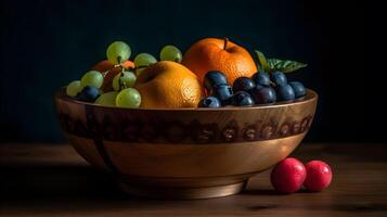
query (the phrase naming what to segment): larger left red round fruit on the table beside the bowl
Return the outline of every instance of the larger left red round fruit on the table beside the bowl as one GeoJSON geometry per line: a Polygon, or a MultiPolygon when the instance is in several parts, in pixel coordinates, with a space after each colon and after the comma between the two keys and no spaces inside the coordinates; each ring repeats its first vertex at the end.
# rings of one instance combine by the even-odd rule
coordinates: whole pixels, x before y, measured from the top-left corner
{"type": "Polygon", "coordinates": [[[304,164],[296,158],[285,158],[271,171],[271,184],[282,193],[298,191],[307,176],[304,164]]]}

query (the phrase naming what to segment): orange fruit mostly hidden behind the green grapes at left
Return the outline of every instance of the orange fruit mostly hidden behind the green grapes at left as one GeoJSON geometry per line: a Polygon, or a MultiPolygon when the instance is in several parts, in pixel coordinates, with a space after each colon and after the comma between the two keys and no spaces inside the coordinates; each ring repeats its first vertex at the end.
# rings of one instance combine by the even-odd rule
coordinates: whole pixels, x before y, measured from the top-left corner
{"type": "MultiPolygon", "coordinates": [[[[125,61],[122,65],[126,68],[134,68],[134,63],[131,61],[125,61]]],[[[102,73],[104,79],[101,86],[101,90],[104,92],[113,91],[113,86],[112,86],[113,79],[117,74],[122,72],[122,68],[120,66],[114,67],[114,64],[107,60],[96,63],[92,67],[92,69],[102,73]]]]}

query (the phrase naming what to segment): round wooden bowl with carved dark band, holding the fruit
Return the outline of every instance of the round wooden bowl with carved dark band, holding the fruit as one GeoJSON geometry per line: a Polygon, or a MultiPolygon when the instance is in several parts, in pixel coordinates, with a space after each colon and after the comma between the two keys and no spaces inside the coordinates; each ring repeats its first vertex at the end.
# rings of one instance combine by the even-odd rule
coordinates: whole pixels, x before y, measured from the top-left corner
{"type": "Polygon", "coordinates": [[[312,123],[318,95],[291,103],[222,108],[120,108],[55,94],[61,127],[90,164],[128,193],[177,199],[238,193],[285,158],[312,123]]]}

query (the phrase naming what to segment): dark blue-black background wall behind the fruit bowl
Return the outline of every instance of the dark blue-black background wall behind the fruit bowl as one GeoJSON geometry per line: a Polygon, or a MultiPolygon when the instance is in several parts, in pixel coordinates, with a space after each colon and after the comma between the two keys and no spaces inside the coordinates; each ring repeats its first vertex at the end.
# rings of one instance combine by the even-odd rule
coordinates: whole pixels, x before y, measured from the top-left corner
{"type": "Polygon", "coordinates": [[[53,93],[103,60],[112,41],[158,55],[164,44],[184,51],[199,38],[224,36],[249,51],[309,64],[289,78],[320,94],[308,141],[386,141],[377,52],[383,12],[375,2],[0,2],[1,142],[65,141],[53,93]]]}

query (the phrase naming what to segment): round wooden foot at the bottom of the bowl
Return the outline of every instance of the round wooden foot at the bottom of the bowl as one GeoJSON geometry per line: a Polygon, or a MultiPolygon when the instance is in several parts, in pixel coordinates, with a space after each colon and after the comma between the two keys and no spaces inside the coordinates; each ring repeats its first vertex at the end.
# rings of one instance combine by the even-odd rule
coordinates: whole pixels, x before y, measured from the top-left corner
{"type": "Polygon", "coordinates": [[[240,193],[246,186],[247,180],[243,182],[201,187],[201,188],[165,188],[165,187],[150,187],[137,186],[133,183],[119,181],[119,186],[124,192],[145,197],[162,197],[162,199],[212,199],[228,196],[240,193]]]}

